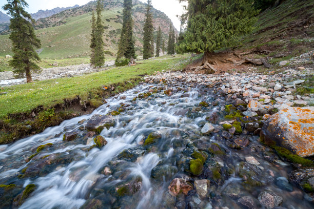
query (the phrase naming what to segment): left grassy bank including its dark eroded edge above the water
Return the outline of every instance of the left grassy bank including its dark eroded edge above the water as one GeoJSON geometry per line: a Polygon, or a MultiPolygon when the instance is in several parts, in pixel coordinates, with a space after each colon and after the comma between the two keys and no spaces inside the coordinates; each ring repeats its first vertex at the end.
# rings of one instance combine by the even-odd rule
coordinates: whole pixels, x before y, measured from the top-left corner
{"type": "Polygon", "coordinates": [[[179,70],[190,61],[188,54],[163,56],[141,61],[133,67],[119,67],[79,77],[2,88],[0,144],[13,142],[23,136],[41,132],[47,127],[56,126],[64,119],[87,113],[88,109],[90,111],[101,106],[104,96],[134,87],[136,81],[144,75],[162,70],[179,70]],[[104,88],[112,86],[115,87],[114,91],[104,88]],[[74,107],[80,106],[82,102],[89,107],[87,110],[74,107]],[[33,112],[35,117],[31,116],[33,112]]]}

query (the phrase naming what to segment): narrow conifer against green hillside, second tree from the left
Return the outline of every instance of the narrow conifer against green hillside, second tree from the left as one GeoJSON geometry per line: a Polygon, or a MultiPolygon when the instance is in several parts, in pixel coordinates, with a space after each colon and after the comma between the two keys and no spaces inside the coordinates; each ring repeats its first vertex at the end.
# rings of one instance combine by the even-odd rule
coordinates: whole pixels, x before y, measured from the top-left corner
{"type": "Polygon", "coordinates": [[[105,53],[104,53],[104,26],[102,21],[102,11],[104,10],[103,1],[97,1],[97,20],[95,28],[95,49],[94,49],[94,58],[91,60],[91,64],[94,67],[101,67],[105,63],[105,53]]]}

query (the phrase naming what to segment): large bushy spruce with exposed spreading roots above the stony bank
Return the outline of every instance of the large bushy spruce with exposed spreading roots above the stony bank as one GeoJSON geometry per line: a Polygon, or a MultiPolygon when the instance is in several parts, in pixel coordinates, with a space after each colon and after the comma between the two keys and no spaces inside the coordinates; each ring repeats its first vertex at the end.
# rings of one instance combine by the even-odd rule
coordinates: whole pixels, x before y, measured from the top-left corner
{"type": "Polygon", "coordinates": [[[182,1],[188,6],[187,28],[180,49],[204,53],[201,66],[212,62],[210,53],[214,50],[240,44],[240,37],[251,32],[257,20],[253,0],[182,1]]]}

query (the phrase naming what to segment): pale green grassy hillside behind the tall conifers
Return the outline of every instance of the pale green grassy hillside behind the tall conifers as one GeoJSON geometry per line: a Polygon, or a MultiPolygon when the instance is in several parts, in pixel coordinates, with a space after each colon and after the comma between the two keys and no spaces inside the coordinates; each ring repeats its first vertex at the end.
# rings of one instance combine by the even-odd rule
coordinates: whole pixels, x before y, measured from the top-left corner
{"type": "MultiPolygon", "coordinates": [[[[103,21],[105,25],[105,50],[107,57],[114,57],[117,52],[122,28],[123,0],[104,1],[105,11],[103,21]]],[[[135,0],[133,6],[134,38],[136,54],[142,53],[143,26],[146,5],[135,0]]],[[[91,11],[96,2],[73,9],[62,11],[47,18],[38,19],[35,32],[42,41],[40,56],[44,59],[61,59],[86,57],[89,55],[91,33],[91,11]]],[[[161,11],[153,9],[154,28],[162,28],[163,38],[168,39],[171,20],[161,11]]],[[[9,35],[0,36],[0,56],[12,54],[9,35]]]]}

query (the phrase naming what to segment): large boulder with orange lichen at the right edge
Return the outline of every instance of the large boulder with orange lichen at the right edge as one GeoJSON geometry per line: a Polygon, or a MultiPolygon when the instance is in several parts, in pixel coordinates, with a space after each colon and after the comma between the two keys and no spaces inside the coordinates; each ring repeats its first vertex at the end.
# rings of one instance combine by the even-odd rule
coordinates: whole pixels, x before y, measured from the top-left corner
{"type": "Polygon", "coordinates": [[[267,119],[261,140],[301,156],[314,155],[314,107],[286,107],[267,119]]]}

